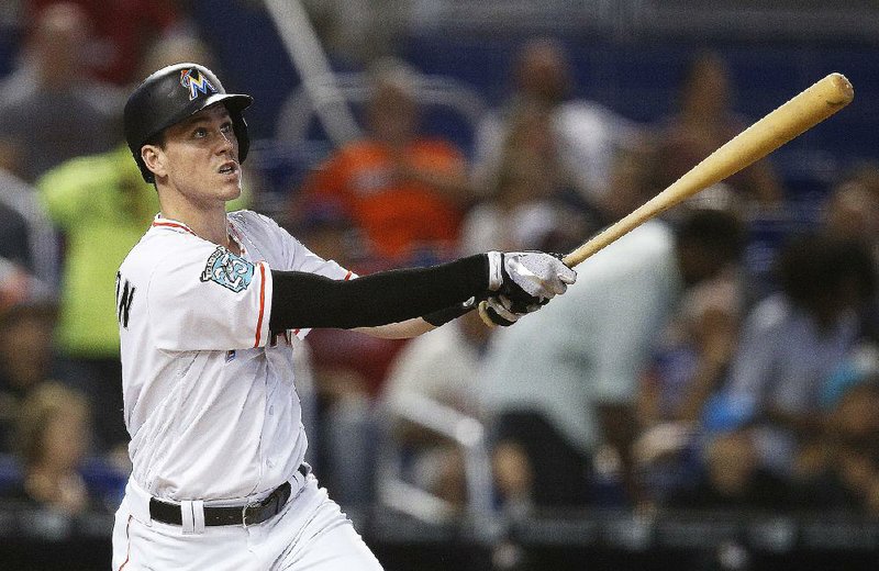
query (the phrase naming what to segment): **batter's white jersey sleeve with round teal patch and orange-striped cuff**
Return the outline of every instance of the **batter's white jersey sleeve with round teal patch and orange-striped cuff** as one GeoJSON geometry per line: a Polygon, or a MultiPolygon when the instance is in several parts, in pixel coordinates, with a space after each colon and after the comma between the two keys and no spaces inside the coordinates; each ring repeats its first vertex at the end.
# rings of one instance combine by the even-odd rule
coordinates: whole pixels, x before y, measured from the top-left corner
{"type": "Polygon", "coordinates": [[[271,272],[205,243],[166,256],[147,290],[148,320],[163,350],[230,350],[269,338],[271,272]]]}

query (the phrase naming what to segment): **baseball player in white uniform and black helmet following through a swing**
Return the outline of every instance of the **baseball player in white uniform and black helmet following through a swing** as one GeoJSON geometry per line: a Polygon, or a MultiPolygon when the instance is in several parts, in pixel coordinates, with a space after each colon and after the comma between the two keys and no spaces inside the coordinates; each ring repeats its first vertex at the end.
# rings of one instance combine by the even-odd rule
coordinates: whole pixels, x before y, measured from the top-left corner
{"type": "Polygon", "coordinates": [[[381,569],[303,461],[292,336],[410,337],[479,300],[509,325],[576,279],[552,255],[498,251],[354,279],[271,220],[226,214],[251,102],[178,64],[125,105],[125,137],[160,213],[116,276],[133,471],[115,570],[381,569]]]}

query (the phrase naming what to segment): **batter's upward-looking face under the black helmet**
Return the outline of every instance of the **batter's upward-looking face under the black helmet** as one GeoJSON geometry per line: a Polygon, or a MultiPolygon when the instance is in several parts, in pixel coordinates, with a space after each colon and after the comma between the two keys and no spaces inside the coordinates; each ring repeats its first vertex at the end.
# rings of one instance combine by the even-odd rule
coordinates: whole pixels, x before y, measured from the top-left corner
{"type": "Polygon", "coordinates": [[[168,184],[192,202],[223,202],[241,195],[238,139],[222,103],[165,131],[168,184]]]}

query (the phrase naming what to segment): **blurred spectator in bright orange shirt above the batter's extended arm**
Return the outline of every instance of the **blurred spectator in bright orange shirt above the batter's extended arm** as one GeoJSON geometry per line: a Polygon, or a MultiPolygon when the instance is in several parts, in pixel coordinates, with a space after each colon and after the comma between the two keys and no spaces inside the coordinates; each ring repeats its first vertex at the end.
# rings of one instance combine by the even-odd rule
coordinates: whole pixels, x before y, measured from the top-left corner
{"type": "Polygon", "coordinates": [[[454,145],[420,133],[414,79],[401,61],[376,66],[367,135],[341,147],[305,180],[291,220],[302,200],[334,201],[378,257],[403,262],[448,257],[471,195],[467,165],[454,145]]]}

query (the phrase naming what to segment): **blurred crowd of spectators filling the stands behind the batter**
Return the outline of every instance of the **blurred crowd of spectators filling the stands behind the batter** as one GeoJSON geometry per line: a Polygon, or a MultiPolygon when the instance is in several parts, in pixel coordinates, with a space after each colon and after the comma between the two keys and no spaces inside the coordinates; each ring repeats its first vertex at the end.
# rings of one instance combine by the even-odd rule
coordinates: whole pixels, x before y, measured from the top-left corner
{"type": "MultiPolygon", "coordinates": [[[[113,284],[158,209],[121,105],[163,65],[222,61],[169,0],[124,2],[137,21],[87,0],[23,3],[0,78],[0,496],[110,511],[129,470],[113,284]]],[[[510,54],[509,93],[463,149],[423,131],[411,64],[365,69],[363,136],[269,213],[360,275],[567,253],[756,119],[734,111],[717,53],[693,54],[675,109],[642,123],[575,97],[565,47],[535,37],[510,54]]],[[[256,166],[245,186],[230,209],[259,210],[256,166]]],[[[509,328],[471,313],[409,342],[312,332],[297,347],[309,461],[343,505],[388,501],[399,480],[432,517],[479,493],[511,516],[879,516],[879,163],[834,173],[755,271],[754,227],[783,217],[790,193],[761,160],[590,258],[567,294],[509,328]],[[487,490],[465,421],[483,428],[487,490]]]]}

